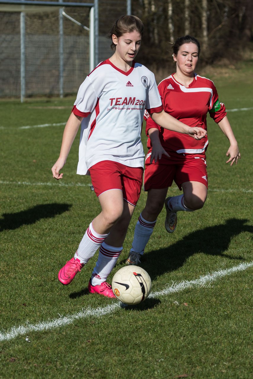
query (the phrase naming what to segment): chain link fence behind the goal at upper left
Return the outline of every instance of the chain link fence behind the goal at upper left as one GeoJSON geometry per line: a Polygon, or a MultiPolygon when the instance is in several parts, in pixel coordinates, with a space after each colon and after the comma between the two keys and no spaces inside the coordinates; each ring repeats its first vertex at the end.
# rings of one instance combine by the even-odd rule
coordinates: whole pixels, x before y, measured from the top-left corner
{"type": "MultiPolygon", "coordinates": [[[[127,13],[127,2],[97,3],[101,62],[112,55],[106,35],[115,19],[127,13]]],[[[26,6],[22,13],[16,9],[8,6],[8,11],[3,11],[0,7],[0,98],[20,97],[22,91],[26,98],[75,94],[90,72],[90,8],[64,7],[80,25],[60,16],[59,7],[26,6]]]]}

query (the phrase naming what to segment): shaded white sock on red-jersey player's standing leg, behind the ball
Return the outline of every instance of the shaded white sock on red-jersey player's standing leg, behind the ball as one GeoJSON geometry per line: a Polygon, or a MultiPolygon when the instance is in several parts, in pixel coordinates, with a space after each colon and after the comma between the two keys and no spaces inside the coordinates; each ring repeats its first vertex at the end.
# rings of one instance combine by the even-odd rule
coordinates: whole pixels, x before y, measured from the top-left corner
{"type": "Polygon", "coordinates": [[[154,230],[156,221],[146,221],[140,214],[134,230],[134,240],[130,252],[137,252],[143,255],[146,244],[154,230]]]}

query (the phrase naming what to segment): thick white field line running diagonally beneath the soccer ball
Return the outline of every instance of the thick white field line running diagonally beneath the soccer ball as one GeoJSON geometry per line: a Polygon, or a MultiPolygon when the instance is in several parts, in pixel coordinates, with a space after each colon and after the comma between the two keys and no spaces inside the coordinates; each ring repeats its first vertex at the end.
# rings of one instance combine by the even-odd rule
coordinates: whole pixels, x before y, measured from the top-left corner
{"type": "MultiPolygon", "coordinates": [[[[224,276],[228,276],[230,274],[236,273],[238,271],[246,270],[249,267],[253,266],[253,261],[248,263],[240,263],[238,266],[234,266],[232,268],[214,271],[211,274],[207,274],[205,276],[200,276],[198,279],[195,280],[185,280],[183,282],[179,283],[173,283],[170,287],[165,288],[161,291],[151,292],[149,294],[149,298],[157,298],[159,296],[168,295],[170,293],[178,293],[180,291],[183,291],[187,288],[193,288],[193,287],[206,287],[206,283],[214,282],[217,279],[220,279],[224,276]]],[[[37,332],[37,331],[44,331],[49,329],[56,329],[58,327],[69,325],[75,320],[79,320],[82,318],[86,318],[89,316],[92,317],[100,317],[105,316],[108,313],[112,313],[115,310],[121,308],[121,307],[127,307],[127,305],[121,303],[121,302],[115,302],[114,304],[107,305],[106,307],[98,307],[95,309],[91,309],[90,307],[88,309],[83,309],[80,312],[74,313],[73,315],[67,315],[67,316],[60,316],[57,319],[54,319],[52,321],[42,321],[41,323],[31,325],[29,322],[27,322],[26,326],[13,326],[8,332],[2,332],[0,333],[0,341],[7,341],[7,340],[13,340],[14,338],[18,337],[19,335],[27,335],[30,332],[37,332]]]]}

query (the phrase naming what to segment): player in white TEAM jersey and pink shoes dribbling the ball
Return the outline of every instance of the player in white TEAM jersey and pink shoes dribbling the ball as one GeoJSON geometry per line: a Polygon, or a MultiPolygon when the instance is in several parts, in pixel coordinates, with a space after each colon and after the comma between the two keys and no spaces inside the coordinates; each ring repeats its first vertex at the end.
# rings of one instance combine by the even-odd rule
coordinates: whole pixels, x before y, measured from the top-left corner
{"type": "Polygon", "coordinates": [[[81,124],[77,174],[91,175],[102,208],[90,223],[74,255],[60,269],[58,279],[69,284],[99,249],[88,284],[91,293],[115,297],[106,279],[122,251],[122,244],[140,196],[144,152],[141,124],[145,109],[163,128],[202,139],[203,128],[188,127],[162,109],[154,74],[135,63],[143,23],[134,16],[120,17],[110,36],[115,53],[100,63],[79,88],[64,128],[60,156],[52,167],[61,179],[75,135],[81,124]]]}

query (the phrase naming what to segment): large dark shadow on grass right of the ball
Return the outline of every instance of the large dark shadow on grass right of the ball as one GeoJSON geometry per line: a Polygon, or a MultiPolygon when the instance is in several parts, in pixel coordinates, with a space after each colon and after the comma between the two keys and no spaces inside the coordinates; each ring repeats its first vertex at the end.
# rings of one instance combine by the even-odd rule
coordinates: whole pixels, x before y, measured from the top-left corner
{"type": "MultiPolygon", "coordinates": [[[[244,260],[240,255],[231,256],[225,252],[232,238],[241,232],[253,233],[253,226],[244,225],[247,221],[247,219],[232,218],[226,220],[225,224],[196,230],[167,248],[144,253],[141,259],[141,267],[148,271],[154,280],[163,273],[180,268],[187,258],[196,253],[244,260]]],[[[170,238],[169,233],[168,238],[170,238]]],[[[241,241],[238,246],[241,246],[241,241]]]]}

